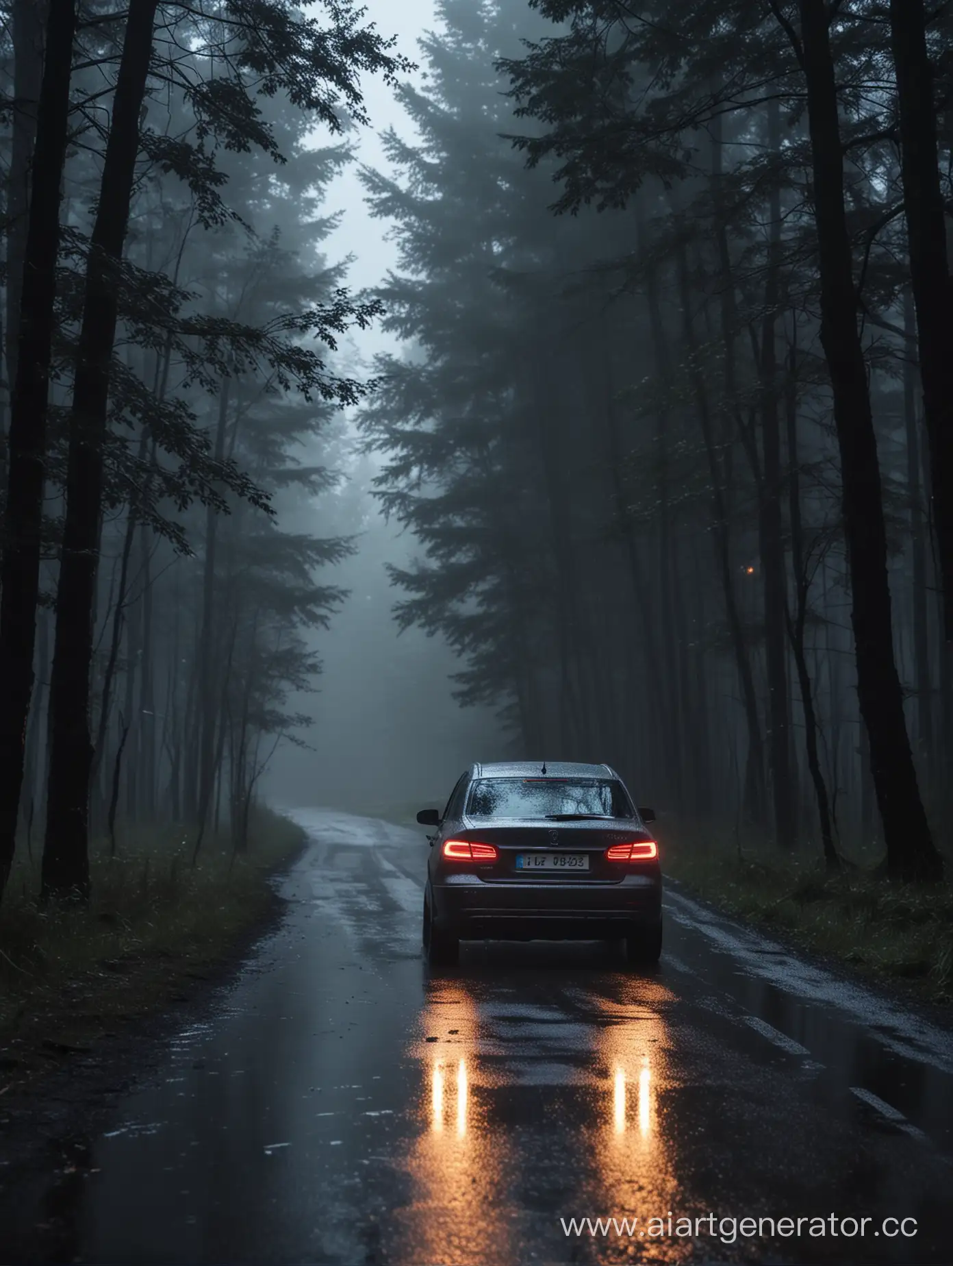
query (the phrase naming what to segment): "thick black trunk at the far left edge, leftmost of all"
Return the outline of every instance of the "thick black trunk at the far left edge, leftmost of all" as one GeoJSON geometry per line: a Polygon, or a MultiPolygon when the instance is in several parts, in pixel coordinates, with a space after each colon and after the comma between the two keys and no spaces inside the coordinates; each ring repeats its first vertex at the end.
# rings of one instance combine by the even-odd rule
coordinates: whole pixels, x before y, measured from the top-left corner
{"type": "Polygon", "coordinates": [[[75,0],[51,0],[27,228],[18,373],[10,401],[0,595],[0,899],[13,865],[37,638],[59,181],[66,160],[75,0]]]}

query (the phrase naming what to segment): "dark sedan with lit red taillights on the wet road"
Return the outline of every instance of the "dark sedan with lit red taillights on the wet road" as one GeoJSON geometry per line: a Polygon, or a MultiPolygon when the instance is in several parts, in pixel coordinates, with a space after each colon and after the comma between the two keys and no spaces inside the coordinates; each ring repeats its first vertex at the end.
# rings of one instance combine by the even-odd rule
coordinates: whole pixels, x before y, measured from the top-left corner
{"type": "Polygon", "coordinates": [[[625,938],[630,962],[662,951],[658,844],[607,765],[473,765],[435,827],[424,948],[453,962],[461,939],[625,938]]]}

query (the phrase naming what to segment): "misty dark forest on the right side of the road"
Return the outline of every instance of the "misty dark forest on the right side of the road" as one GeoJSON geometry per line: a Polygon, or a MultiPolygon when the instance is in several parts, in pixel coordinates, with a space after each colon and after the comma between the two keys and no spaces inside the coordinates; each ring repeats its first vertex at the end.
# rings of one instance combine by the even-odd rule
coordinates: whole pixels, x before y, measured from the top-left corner
{"type": "Polygon", "coordinates": [[[950,6],[530,9],[440,5],[364,176],[418,349],[362,413],[399,619],[526,753],[937,877],[950,6]]]}

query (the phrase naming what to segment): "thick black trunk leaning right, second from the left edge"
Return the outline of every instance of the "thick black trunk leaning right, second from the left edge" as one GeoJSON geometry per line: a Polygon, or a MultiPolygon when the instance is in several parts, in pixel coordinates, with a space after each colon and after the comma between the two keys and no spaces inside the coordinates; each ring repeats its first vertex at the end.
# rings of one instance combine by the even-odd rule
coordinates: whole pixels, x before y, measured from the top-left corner
{"type": "Polygon", "coordinates": [[[113,267],[121,258],[129,225],[156,6],[157,0],[130,0],[86,265],[57,590],[43,898],[89,894],[90,667],[103,513],[103,446],[116,327],[113,267]]]}

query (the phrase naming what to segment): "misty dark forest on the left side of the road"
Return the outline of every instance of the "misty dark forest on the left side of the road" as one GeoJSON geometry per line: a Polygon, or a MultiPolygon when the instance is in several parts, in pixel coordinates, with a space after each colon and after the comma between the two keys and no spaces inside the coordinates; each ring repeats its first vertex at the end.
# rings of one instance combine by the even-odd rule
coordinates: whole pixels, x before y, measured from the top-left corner
{"type": "Polygon", "coordinates": [[[5,37],[0,889],[19,830],[84,896],[118,817],[240,851],[306,720],[352,543],[282,511],[338,480],[366,386],[329,357],[380,306],[323,200],[359,76],[405,62],[349,4],[18,0],[5,37]]]}

